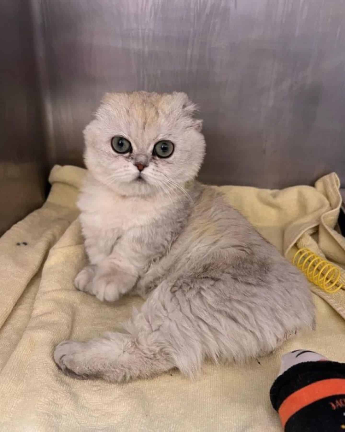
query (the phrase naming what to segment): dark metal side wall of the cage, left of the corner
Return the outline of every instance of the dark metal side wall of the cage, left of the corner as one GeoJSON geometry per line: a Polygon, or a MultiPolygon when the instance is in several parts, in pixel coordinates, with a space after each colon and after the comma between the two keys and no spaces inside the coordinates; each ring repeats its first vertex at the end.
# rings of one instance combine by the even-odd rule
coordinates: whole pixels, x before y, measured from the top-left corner
{"type": "Polygon", "coordinates": [[[30,8],[0,0],[0,235],[41,206],[45,150],[30,8]]]}

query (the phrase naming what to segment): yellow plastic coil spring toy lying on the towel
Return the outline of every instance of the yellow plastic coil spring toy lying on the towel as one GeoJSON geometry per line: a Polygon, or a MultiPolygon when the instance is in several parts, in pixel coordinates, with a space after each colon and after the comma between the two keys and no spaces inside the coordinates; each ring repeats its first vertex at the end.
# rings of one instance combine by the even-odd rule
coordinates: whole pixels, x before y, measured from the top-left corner
{"type": "Polygon", "coordinates": [[[343,287],[339,281],[339,268],[307,248],[299,249],[292,263],[302,270],[310,282],[319,286],[323,291],[333,294],[343,287]]]}

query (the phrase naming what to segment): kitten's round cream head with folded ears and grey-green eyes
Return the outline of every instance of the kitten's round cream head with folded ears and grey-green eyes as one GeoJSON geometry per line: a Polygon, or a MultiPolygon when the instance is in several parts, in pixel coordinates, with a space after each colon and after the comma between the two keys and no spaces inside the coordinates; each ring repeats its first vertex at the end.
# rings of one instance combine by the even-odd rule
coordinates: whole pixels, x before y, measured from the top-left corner
{"type": "Polygon", "coordinates": [[[148,195],[183,186],[204,159],[201,121],[185,93],[105,95],[85,128],[89,171],[122,195],[148,195]]]}

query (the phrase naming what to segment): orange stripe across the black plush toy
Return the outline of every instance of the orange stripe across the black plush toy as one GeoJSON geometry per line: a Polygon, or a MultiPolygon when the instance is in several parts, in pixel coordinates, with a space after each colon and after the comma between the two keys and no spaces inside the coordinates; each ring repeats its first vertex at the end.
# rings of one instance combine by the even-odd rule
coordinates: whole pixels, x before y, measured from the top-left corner
{"type": "Polygon", "coordinates": [[[345,394],[345,378],[330,378],[309,384],[290,394],[278,410],[283,428],[297,411],[317,400],[337,394],[345,394]]]}

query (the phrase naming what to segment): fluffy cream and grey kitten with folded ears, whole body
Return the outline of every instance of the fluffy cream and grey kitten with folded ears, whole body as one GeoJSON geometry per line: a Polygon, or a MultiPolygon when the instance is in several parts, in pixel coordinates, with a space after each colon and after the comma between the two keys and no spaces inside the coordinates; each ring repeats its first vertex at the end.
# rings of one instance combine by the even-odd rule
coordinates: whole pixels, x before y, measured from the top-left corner
{"type": "Polygon", "coordinates": [[[182,92],[104,96],[85,128],[88,177],[78,200],[90,264],[77,289],[101,301],[146,299],[124,332],[54,352],[68,375],[120,382],[171,368],[194,376],[205,359],[272,352],[314,327],[304,275],[195,180],[202,122],[182,92]]]}

